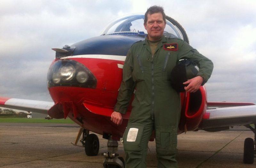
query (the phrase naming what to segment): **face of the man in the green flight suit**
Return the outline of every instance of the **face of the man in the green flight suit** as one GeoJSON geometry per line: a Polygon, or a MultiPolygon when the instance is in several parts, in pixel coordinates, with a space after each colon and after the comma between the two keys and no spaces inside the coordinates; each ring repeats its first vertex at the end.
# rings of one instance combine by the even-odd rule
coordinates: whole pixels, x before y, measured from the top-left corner
{"type": "Polygon", "coordinates": [[[146,25],[144,24],[148,32],[148,40],[154,41],[160,39],[164,33],[165,25],[166,23],[164,22],[162,13],[148,14],[148,21],[146,25]]]}

